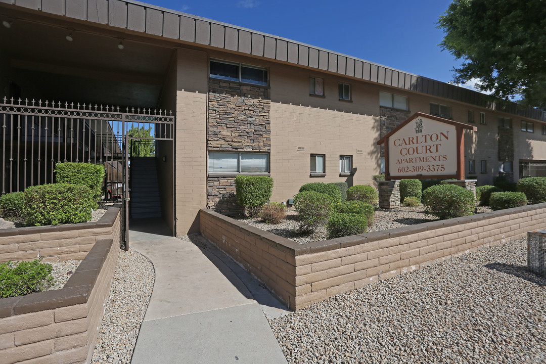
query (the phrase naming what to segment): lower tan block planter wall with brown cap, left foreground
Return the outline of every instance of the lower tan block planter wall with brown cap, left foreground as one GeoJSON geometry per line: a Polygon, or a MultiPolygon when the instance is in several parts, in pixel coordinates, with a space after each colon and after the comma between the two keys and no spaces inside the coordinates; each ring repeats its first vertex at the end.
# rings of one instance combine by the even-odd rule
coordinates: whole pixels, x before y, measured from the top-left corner
{"type": "Polygon", "coordinates": [[[90,244],[63,289],[0,300],[3,364],[90,362],[120,252],[119,210],[108,210],[114,233],[90,244]]]}

